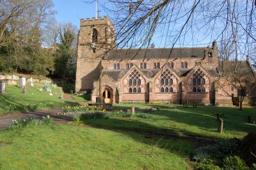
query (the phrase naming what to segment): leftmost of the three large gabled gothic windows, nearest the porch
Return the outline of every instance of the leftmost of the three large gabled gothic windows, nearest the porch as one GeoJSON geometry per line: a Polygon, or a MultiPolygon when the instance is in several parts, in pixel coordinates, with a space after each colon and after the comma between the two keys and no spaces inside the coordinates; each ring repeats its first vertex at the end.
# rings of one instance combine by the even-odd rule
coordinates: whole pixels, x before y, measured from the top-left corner
{"type": "Polygon", "coordinates": [[[133,70],[129,75],[129,93],[141,93],[141,75],[137,70],[133,70]]]}

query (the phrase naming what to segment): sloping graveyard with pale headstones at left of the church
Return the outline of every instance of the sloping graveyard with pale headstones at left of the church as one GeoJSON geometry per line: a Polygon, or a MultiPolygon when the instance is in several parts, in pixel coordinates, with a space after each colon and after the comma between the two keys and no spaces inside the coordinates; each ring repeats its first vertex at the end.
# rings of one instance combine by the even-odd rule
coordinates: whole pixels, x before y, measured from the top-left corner
{"type": "Polygon", "coordinates": [[[23,87],[19,86],[19,82],[18,84],[2,82],[2,84],[4,86],[0,95],[0,115],[8,112],[72,105],[72,102],[63,98],[62,88],[53,84],[48,84],[48,87],[45,87],[45,82],[33,82],[33,86],[31,86],[29,80],[25,83],[26,86],[24,85],[23,87]]]}

